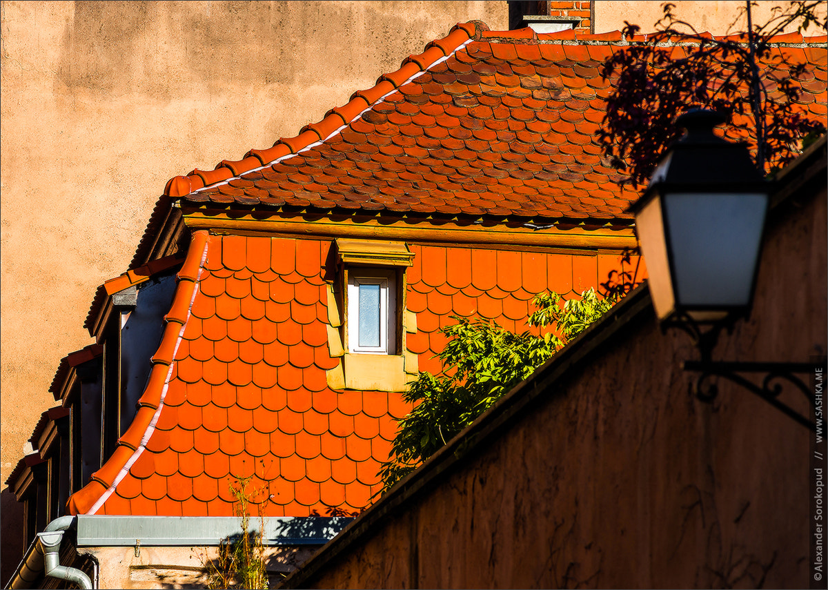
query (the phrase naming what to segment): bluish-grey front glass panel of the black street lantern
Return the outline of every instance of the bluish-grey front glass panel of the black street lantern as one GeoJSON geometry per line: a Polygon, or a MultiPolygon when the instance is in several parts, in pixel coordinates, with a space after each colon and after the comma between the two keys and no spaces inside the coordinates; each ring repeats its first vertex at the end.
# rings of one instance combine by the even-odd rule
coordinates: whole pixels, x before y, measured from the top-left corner
{"type": "Polygon", "coordinates": [[[678,307],[749,305],[768,196],[673,193],[663,206],[678,307]]]}

